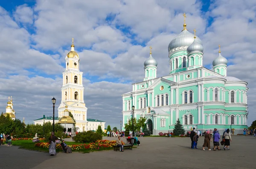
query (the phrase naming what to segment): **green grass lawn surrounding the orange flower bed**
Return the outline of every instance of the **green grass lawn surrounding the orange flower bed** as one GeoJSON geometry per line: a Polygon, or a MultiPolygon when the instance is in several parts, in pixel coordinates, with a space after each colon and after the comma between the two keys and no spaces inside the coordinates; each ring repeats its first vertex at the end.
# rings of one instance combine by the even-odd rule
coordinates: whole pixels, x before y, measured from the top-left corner
{"type": "MultiPolygon", "coordinates": [[[[36,143],[43,143],[46,141],[40,141],[36,143]]],[[[75,142],[65,142],[67,145],[79,145],[83,143],[75,143],[75,142]]],[[[42,152],[49,152],[48,148],[43,148],[43,147],[36,147],[35,143],[32,140],[17,140],[17,141],[12,141],[13,146],[20,146],[20,148],[24,149],[30,149],[30,150],[35,150],[35,151],[42,151],[42,152]]],[[[102,150],[113,150],[113,148],[104,148],[104,149],[99,149],[99,150],[91,150],[91,149],[81,149],[81,150],[72,150],[72,152],[83,152],[83,153],[89,153],[89,152],[96,152],[96,151],[102,151],[102,150]]],[[[56,149],[56,152],[62,152],[61,149],[56,149]]]]}

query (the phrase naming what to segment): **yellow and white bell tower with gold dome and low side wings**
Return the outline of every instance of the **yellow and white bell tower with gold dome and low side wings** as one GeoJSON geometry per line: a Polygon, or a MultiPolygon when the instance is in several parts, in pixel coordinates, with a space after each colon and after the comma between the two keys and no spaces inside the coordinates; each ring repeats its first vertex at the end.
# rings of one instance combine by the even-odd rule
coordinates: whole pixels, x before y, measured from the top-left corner
{"type": "MultiPolygon", "coordinates": [[[[88,130],[96,131],[98,126],[105,129],[105,121],[96,119],[87,119],[87,107],[84,103],[83,72],[79,71],[79,55],[75,51],[74,41],[72,41],[71,50],[67,53],[66,68],[62,72],[63,82],[61,87],[61,104],[58,107],[58,117],[55,117],[55,123],[60,123],[70,132],[83,132],[88,130]],[[74,120],[69,116],[69,112],[74,120]],[[76,127],[75,129],[73,127],[76,127]]],[[[35,124],[43,124],[43,120],[52,123],[52,117],[44,117],[34,120],[35,124]]]]}

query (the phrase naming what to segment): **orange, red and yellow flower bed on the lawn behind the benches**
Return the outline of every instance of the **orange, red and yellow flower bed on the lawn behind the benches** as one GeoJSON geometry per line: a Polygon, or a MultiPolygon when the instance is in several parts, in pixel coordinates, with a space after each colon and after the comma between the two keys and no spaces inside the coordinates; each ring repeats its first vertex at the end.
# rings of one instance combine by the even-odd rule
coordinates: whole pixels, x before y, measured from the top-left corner
{"type": "MultiPolygon", "coordinates": [[[[125,143],[122,141],[122,144],[124,145],[125,143]]],[[[68,146],[70,146],[72,150],[83,150],[83,149],[100,150],[105,148],[111,148],[115,145],[116,145],[115,140],[97,140],[95,143],[68,145],[68,146]]],[[[35,143],[35,146],[49,148],[49,143],[35,143]]],[[[57,143],[56,149],[61,149],[61,145],[57,143]]]]}

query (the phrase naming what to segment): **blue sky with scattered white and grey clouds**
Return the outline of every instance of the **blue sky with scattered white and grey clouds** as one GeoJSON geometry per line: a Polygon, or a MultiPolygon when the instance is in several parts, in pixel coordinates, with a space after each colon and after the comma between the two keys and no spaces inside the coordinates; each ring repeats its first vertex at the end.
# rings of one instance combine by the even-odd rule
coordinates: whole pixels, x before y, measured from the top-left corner
{"type": "Polygon", "coordinates": [[[87,118],[120,126],[121,95],[143,81],[149,46],[157,77],[169,74],[167,47],[183,29],[184,12],[187,29],[203,42],[204,67],[212,69],[220,44],[227,75],[248,82],[250,126],[256,120],[255,0],[1,0],[0,111],[12,96],[20,120],[52,116],[74,38],[87,118]]]}

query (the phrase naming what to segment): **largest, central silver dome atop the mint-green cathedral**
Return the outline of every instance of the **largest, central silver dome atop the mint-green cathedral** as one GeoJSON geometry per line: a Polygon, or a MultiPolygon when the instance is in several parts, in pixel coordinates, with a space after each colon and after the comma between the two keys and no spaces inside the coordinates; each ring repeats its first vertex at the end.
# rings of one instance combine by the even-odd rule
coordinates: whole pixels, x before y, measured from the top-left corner
{"type": "MultiPolygon", "coordinates": [[[[196,36],[198,43],[201,43],[201,39],[196,36]]],[[[188,32],[187,30],[183,30],[177,37],[175,37],[168,46],[168,52],[172,49],[180,47],[180,46],[189,46],[194,42],[194,34],[188,32]]]]}

